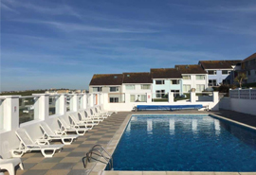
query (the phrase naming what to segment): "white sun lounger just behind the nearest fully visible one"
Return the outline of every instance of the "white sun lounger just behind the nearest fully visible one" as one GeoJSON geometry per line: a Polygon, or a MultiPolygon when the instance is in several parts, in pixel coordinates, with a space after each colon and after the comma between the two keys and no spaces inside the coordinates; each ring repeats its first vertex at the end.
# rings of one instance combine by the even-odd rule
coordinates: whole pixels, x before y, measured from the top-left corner
{"type": "Polygon", "coordinates": [[[74,139],[78,138],[78,135],[63,135],[61,132],[54,132],[49,128],[46,122],[41,122],[40,128],[44,131],[43,138],[48,140],[62,140],[64,145],[70,145],[74,139]]]}

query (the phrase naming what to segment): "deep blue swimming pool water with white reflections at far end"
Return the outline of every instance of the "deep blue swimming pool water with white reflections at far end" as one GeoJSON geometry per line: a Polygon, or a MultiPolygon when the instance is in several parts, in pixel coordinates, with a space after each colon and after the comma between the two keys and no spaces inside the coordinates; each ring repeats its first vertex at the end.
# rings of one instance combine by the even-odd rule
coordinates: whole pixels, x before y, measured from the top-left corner
{"type": "Polygon", "coordinates": [[[132,116],[114,170],[256,171],[256,132],[209,115],[132,116]]]}

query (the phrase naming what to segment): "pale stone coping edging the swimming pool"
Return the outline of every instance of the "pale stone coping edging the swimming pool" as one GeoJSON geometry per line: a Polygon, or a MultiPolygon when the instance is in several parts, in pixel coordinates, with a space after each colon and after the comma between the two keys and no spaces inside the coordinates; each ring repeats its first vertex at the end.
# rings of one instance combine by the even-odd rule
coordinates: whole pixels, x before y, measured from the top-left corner
{"type": "MultiPolygon", "coordinates": [[[[107,148],[105,148],[109,153],[110,155],[112,156],[113,153],[115,152],[115,149],[117,149],[118,145],[119,145],[119,140],[121,139],[121,136],[123,134],[123,132],[125,131],[131,117],[133,115],[152,115],[152,114],[127,114],[127,116],[125,117],[124,121],[122,122],[122,124],[120,125],[119,127],[119,130],[116,131],[116,133],[114,134],[114,136],[110,139],[110,141],[108,142],[107,144],[107,148]]],[[[159,114],[159,115],[174,115],[174,114],[159,114]]],[[[182,114],[177,114],[177,115],[182,115],[182,114]]],[[[186,115],[190,115],[190,114],[186,114],[186,115]]],[[[203,115],[203,114],[201,114],[203,115]]],[[[244,123],[241,123],[241,122],[238,122],[238,121],[235,121],[235,120],[232,120],[232,119],[229,119],[227,117],[224,117],[224,116],[221,116],[221,115],[218,115],[218,114],[205,114],[205,115],[213,115],[215,116],[216,118],[221,118],[223,120],[226,120],[226,121],[229,121],[229,122],[232,122],[232,123],[235,123],[235,124],[238,124],[238,125],[241,125],[241,126],[244,126],[246,128],[249,128],[249,129],[252,129],[254,131],[256,131],[256,128],[255,127],[252,127],[252,126],[249,126],[247,124],[244,124],[244,123]]],[[[100,159],[102,162],[104,162],[104,159],[101,158],[100,159]]],[[[237,171],[227,171],[227,172],[222,172],[222,171],[129,171],[129,170],[105,170],[106,168],[106,164],[103,164],[101,162],[98,162],[95,164],[95,166],[93,166],[93,168],[90,170],[89,174],[90,173],[98,173],[98,174],[104,174],[104,172],[141,172],[141,174],[143,174],[143,172],[154,172],[155,174],[157,174],[157,172],[180,172],[180,173],[184,173],[184,172],[189,172],[189,173],[195,173],[195,172],[198,172],[199,174],[200,173],[204,173],[204,174],[214,174],[215,172],[217,173],[231,173],[231,174],[240,174],[240,173],[255,173],[255,172],[237,172],[237,171]]],[[[256,174],[256,173],[255,173],[256,174]]]]}

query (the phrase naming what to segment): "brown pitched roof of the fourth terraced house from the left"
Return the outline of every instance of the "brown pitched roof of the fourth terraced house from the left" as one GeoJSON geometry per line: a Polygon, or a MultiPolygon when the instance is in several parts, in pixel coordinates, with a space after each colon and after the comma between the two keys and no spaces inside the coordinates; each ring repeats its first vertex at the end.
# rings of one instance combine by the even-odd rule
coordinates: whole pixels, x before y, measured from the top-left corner
{"type": "Polygon", "coordinates": [[[175,68],[181,74],[207,74],[207,72],[198,64],[193,65],[175,65],[175,68]]]}

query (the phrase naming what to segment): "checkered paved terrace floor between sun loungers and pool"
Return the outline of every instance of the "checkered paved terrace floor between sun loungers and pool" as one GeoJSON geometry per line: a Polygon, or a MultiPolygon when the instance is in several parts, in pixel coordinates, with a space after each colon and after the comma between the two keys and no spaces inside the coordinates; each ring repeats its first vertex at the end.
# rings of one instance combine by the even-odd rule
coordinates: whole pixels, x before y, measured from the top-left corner
{"type": "MultiPolygon", "coordinates": [[[[247,125],[256,127],[256,116],[250,114],[241,114],[232,111],[218,111],[218,112],[198,112],[198,111],[159,111],[159,112],[119,112],[119,114],[112,114],[98,126],[95,126],[93,130],[88,131],[83,136],[80,136],[70,146],[64,146],[61,152],[57,152],[53,158],[44,158],[40,152],[27,153],[22,157],[25,170],[17,169],[17,175],[82,175],[82,174],[98,174],[91,172],[92,168],[96,163],[90,163],[85,170],[82,164],[82,158],[86,152],[96,144],[101,144],[106,147],[108,142],[112,139],[116,131],[119,130],[119,126],[124,121],[128,114],[218,114],[229,119],[233,119],[247,125]]],[[[5,172],[5,175],[8,175],[5,172]]],[[[102,175],[150,175],[155,172],[150,171],[105,171],[102,175]]],[[[157,174],[163,175],[196,175],[205,174],[205,172],[157,172],[157,174]]],[[[256,175],[256,173],[225,173],[225,172],[210,172],[207,174],[226,174],[226,175],[256,175]]]]}

